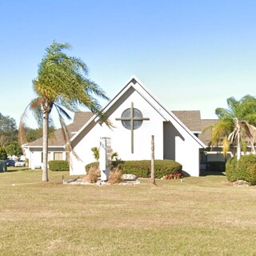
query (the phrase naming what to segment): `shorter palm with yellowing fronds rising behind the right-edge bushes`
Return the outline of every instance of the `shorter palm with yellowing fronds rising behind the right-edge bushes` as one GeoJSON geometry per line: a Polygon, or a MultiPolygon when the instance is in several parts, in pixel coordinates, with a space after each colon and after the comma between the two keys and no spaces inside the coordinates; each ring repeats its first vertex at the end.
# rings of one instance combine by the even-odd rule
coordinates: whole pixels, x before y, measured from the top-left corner
{"type": "Polygon", "coordinates": [[[217,108],[219,120],[212,132],[212,142],[222,140],[226,150],[230,143],[236,143],[237,158],[241,157],[241,145],[246,139],[252,146],[254,152],[254,134],[256,123],[256,98],[246,95],[239,101],[234,97],[227,99],[228,108],[217,108]]]}

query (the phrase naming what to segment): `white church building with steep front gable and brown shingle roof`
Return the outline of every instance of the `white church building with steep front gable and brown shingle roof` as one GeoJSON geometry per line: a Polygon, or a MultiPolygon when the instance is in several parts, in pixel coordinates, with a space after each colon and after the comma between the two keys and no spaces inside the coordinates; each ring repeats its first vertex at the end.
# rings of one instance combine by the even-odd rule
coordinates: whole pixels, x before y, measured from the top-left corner
{"type": "MultiPolygon", "coordinates": [[[[74,122],[67,126],[74,152],[66,152],[62,132],[56,130],[54,139],[49,141],[49,160],[69,159],[70,175],[86,174],[85,166],[95,161],[91,148],[99,147],[100,138],[110,138],[111,149],[122,160],[146,160],[151,158],[154,135],[155,159],[175,160],[182,164],[186,174],[199,176],[200,151],[206,145],[198,138],[202,128],[197,125],[198,119],[191,116],[188,127],[178,118],[182,111],[167,110],[138,78],[130,78],[102,112],[112,127],[106,126],[96,114],[76,113],[74,122]]],[[[30,168],[42,166],[42,139],[23,148],[30,168]]]]}

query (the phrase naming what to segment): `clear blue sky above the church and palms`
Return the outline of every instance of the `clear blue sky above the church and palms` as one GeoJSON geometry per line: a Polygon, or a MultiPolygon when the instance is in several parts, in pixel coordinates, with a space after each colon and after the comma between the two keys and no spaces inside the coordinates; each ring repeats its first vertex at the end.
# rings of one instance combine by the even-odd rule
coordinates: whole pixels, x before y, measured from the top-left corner
{"type": "Polygon", "coordinates": [[[255,10],[248,0],[2,0],[0,112],[18,123],[55,40],[109,98],[134,74],[168,109],[216,118],[226,98],[256,96],[255,10]]]}

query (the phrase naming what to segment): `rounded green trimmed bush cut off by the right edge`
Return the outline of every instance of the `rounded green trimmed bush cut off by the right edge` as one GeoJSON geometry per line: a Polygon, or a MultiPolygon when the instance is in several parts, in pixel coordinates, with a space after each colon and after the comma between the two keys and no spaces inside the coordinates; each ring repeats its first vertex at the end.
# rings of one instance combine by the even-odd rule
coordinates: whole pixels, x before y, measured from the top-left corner
{"type": "Polygon", "coordinates": [[[238,179],[256,185],[256,155],[247,154],[238,161],[238,179]]]}

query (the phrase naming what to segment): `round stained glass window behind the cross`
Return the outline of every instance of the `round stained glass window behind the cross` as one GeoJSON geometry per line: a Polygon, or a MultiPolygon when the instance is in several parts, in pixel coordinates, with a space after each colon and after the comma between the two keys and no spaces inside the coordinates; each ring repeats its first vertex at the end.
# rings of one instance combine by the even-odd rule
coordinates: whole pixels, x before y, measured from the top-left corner
{"type": "Polygon", "coordinates": [[[131,109],[126,109],[122,112],[122,118],[127,118],[127,120],[122,120],[122,126],[128,130],[131,130],[131,122],[133,122],[134,130],[142,126],[142,120],[136,120],[137,118],[143,118],[142,112],[135,108],[133,108],[133,110],[133,114],[131,113],[131,109]]]}

